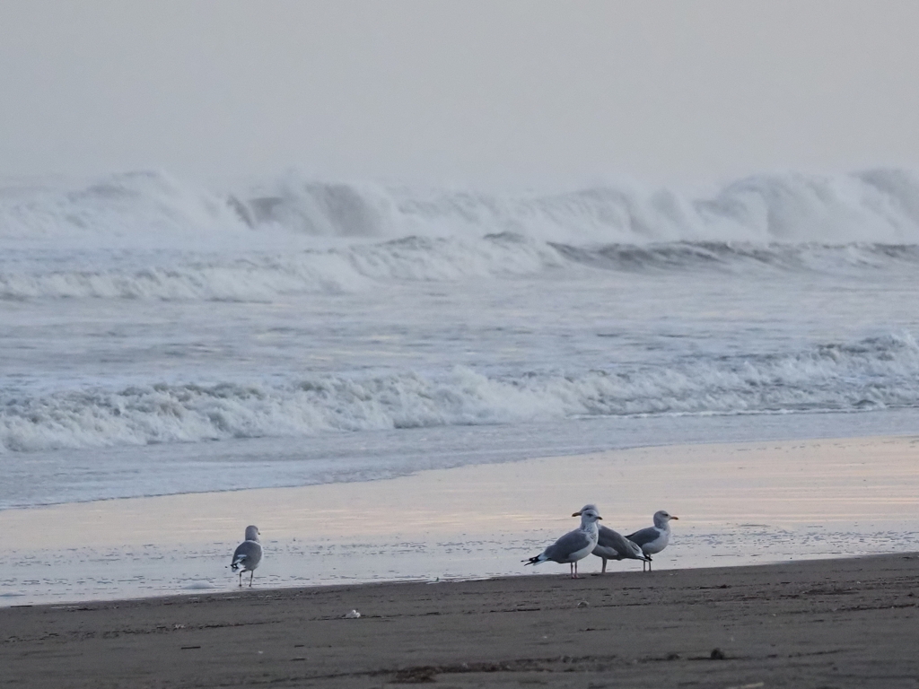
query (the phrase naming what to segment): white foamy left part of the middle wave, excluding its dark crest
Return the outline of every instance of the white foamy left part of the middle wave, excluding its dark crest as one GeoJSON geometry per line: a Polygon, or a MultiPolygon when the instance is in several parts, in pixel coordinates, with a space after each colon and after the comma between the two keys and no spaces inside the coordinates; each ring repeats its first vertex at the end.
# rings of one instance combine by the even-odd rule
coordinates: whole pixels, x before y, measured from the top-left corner
{"type": "Polygon", "coordinates": [[[565,260],[555,248],[516,235],[479,240],[407,237],[293,254],[181,257],[153,265],[94,270],[0,268],[0,299],[271,300],[279,294],[359,292],[380,280],[451,281],[529,275],[565,260]],[[189,260],[189,258],[191,260],[189,260]],[[159,264],[159,265],[157,265],[159,264]]]}

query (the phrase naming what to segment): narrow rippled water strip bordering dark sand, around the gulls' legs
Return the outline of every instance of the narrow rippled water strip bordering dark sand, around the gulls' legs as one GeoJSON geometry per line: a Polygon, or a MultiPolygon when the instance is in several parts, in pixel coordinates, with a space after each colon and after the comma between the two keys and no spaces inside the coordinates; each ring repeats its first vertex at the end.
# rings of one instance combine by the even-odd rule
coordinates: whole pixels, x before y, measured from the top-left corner
{"type": "MultiPolygon", "coordinates": [[[[255,571],[257,588],[389,581],[438,582],[530,573],[519,560],[539,553],[543,537],[448,541],[385,541],[336,544],[270,540],[264,566],[255,571]]],[[[118,600],[176,593],[233,591],[237,577],[227,569],[235,542],[203,548],[68,548],[13,550],[0,558],[0,606],[118,600]]],[[[734,525],[732,530],[683,533],[654,557],[659,574],[674,568],[727,567],[799,559],[854,557],[919,551],[919,531],[781,531],[770,525],[734,525]]],[[[584,575],[599,571],[600,560],[580,564],[584,575]]],[[[637,563],[610,562],[607,576],[641,569],[637,563]]],[[[567,565],[540,565],[536,574],[566,574],[567,565]]],[[[249,575],[244,574],[248,586],[249,575]]]]}

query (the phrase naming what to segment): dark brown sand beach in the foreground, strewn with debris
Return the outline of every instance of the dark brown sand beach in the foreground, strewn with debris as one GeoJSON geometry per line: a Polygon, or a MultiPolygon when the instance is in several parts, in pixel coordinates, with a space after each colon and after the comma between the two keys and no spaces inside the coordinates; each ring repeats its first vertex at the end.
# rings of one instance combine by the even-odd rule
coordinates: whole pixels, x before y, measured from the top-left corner
{"type": "Polygon", "coordinates": [[[0,683],[919,687],[917,554],[562,569],[0,609],[0,683]]]}

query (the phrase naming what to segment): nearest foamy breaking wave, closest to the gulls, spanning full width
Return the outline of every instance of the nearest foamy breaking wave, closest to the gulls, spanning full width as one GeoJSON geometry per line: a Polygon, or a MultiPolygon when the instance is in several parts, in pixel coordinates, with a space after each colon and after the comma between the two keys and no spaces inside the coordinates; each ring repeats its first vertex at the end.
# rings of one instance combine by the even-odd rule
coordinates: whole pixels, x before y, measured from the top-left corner
{"type": "Polygon", "coordinates": [[[919,406],[919,345],[909,334],[784,356],[694,357],[665,366],[488,377],[404,372],[287,385],[134,386],[0,398],[0,448],[199,442],[241,437],[589,415],[865,411],[919,406]]]}

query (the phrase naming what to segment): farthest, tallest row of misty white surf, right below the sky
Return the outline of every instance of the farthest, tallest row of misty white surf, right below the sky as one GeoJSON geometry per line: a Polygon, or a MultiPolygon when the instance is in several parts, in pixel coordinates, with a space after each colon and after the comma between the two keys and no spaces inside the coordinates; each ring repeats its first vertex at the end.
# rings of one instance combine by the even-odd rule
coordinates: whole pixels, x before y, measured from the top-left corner
{"type": "Polygon", "coordinates": [[[917,243],[919,179],[900,170],[754,175],[710,198],[593,186],[553,193],[408,189],[307,180],[216,193],[163,173],[110,175],[78,188],[0,189],[0,236],[162,236],[269,227],[393,239],[516,232],[562,243],[917,243]]]}

